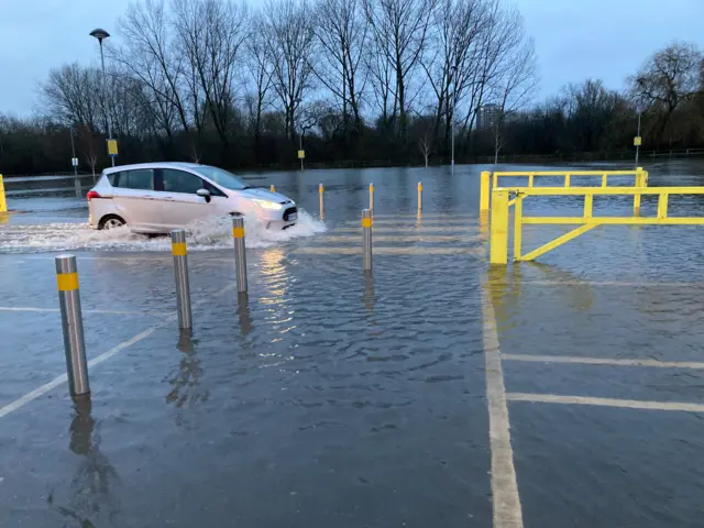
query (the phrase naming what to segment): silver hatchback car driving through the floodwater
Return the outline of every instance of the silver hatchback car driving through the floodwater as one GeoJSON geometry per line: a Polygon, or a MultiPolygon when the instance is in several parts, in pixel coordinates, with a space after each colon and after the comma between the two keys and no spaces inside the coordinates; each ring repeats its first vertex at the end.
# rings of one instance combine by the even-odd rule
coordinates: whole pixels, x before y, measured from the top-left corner
{"type": "Polygon", "coordinates": [[[168,233],[195,220],[227,215],[254,217],[267,229],[286,229],[298,216],[288,197],[195,163],[106,168],[87,198],[91,228],[129,226],[136,233],[168,233]]]}

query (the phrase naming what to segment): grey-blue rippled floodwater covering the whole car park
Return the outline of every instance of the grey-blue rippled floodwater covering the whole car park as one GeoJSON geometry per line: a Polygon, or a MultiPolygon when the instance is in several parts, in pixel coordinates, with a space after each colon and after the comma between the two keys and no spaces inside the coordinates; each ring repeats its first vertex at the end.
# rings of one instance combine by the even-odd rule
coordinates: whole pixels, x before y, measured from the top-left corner
{"type": "MultiPolygon", "coordinates": [[[[605,227],[490,268],[482,168],[253,176],[301,221],[248,223],[239,298],[228,221],[190,227],[193,334],[175,321],[167,239],[91,231],[72,188],[13,187],[25,212],[0,224],[0,526],[507,526],[493,504],[512,493],[490,440],[496,354],[513,526],[704,526],[700,228],[605,227]],[[359,227],[370,183],[373,276],[359,227]],[[63,252],[78,257],[91,403],[58,384],[19,406],[65,372],[63,252]]],[[[704,163],[646,169],[651,186],[704,185],[704,163]]],[[[524,212],[581,202],[530,198],[524,212]]],[[[670,215],[704,202],[671,197],[670,215]]],[[[530,227],[525,250],[563,231],[530,227]]]]}

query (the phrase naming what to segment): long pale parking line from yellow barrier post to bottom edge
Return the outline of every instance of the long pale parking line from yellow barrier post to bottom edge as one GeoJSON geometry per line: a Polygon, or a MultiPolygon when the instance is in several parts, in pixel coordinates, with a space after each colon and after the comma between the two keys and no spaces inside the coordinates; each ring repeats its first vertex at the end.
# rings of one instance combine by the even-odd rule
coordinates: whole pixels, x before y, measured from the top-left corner
{"type": "Polygon", "coordinates": [[[492,451],[492,495],[494,528],[524,526],[510,447],[510,425],[506,404],[506,387],[496,333],[494,306],[486,293],[488,279],[482,277],[482,316],[484,322],[484,365],[486,369],[486,402],[488,406],[490,447],[492,451]]]}

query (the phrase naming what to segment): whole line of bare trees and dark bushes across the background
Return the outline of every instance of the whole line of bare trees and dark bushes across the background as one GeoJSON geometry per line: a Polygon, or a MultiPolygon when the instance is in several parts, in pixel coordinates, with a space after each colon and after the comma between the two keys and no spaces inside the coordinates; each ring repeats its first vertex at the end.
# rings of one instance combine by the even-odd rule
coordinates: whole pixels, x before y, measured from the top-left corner
{"type": "Polygon", "coordinates": [[[31,119],[0,116],[0,172],[188,160],[230,168],[448,162],[704,145],[701,52],[673,44],[628,79],[529,107],[536,58],[503,0],[141,0],[105,42],[107,75],[66,64],[31,119]],[[492,111],[487,112],[491,108],[492,111]]]}

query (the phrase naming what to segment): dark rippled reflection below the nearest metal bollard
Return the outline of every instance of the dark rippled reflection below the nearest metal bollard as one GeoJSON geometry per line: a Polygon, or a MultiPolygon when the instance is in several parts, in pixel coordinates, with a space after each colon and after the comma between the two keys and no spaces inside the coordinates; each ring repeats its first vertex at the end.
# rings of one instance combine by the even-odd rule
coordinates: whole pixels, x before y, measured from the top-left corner
{"type": "MultiPolygon", "coordinates": [[[[76,473],[69,484],[69,497],[65,505],[50,493],[48,503],[67,520],[84,528],[114,526],[121,505],[117,487],[118,472],[100,451],[99,424],[91,416],[90,398],[76,399],[74,419],[70,422],[69,449],[78,457],[76,473]]],[[[56,490],[63,496],[63,490],[56,490]]],[[[69,525],[69,526],[73,526],[69,525]]]]}

